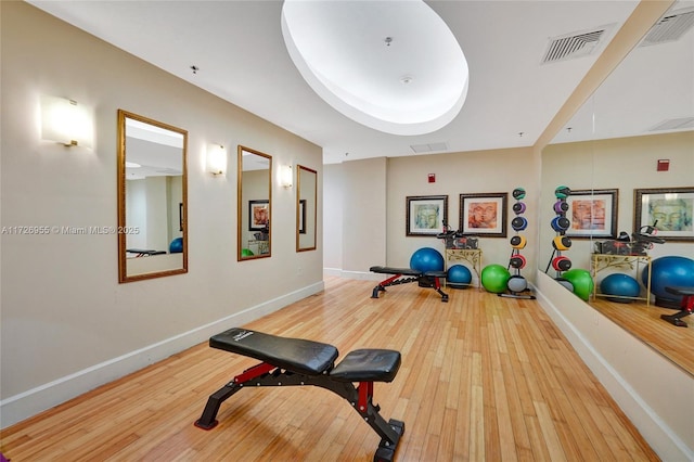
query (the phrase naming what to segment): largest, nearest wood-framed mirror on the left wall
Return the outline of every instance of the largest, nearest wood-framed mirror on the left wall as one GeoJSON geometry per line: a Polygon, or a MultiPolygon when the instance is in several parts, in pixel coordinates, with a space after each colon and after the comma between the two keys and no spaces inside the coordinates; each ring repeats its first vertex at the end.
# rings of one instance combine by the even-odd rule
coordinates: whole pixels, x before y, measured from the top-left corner
{"type": "Polygon", "coordinates": [[[188,272],[188,131],[118,110],[118,281],[188,272]]]}

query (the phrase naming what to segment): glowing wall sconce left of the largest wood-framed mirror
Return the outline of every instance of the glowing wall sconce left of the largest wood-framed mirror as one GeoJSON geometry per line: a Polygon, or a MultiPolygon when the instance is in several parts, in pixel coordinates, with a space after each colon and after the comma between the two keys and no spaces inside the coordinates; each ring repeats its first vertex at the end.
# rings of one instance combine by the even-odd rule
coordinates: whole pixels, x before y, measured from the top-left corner
{"type": "Polygon", "coordinates": [[[65,146],[91,147],[93,117],[76,101],[41,95],[41,139],[65,146]]]}

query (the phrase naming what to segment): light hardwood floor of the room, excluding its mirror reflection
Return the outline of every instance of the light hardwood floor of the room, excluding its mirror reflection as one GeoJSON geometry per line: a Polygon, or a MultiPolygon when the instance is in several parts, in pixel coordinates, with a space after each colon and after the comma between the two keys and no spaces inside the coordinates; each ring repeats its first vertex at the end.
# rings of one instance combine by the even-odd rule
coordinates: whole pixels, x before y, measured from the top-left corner
{"type": "MultiPolygon", "coordinates": [[[[448,287],[327,279],[326,290],[247,324],[338,347],[393,348],[374,385],[406,422],[397,461],[658,460],[535,300],[448,287]]],[[[209,394],[258,361],[195,346],[2,432],[13,461],[370,461],[380,437],[337,395],[241,390],[219,425],[193,422],[209,394]]]]}

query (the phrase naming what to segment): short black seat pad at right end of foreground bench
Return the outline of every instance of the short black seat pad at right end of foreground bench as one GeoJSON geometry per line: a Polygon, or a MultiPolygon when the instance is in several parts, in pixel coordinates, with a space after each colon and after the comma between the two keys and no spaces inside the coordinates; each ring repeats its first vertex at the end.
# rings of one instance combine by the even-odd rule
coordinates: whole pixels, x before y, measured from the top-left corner
{"type": "Polygon", "coordinates": [[[330,373],[335,382],[393,382],[400,369],[400,351],[356,349],[330,373]]]}

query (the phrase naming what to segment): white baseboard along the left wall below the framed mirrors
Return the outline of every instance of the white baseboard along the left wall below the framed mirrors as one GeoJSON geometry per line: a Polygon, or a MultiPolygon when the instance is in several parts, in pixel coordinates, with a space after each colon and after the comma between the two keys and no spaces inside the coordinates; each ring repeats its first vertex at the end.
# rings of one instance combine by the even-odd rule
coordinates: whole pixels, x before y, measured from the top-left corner
{"type": "Polygon", "coordinates": [[[324,290],[323,281],[272,300],[247,308],[170,338],[94,364],[0,401],[0,427],[5,428],[53,408],[101,385],[123,377],[187,348],[207,341],[227,329],[243,325],[324,290]]]}

